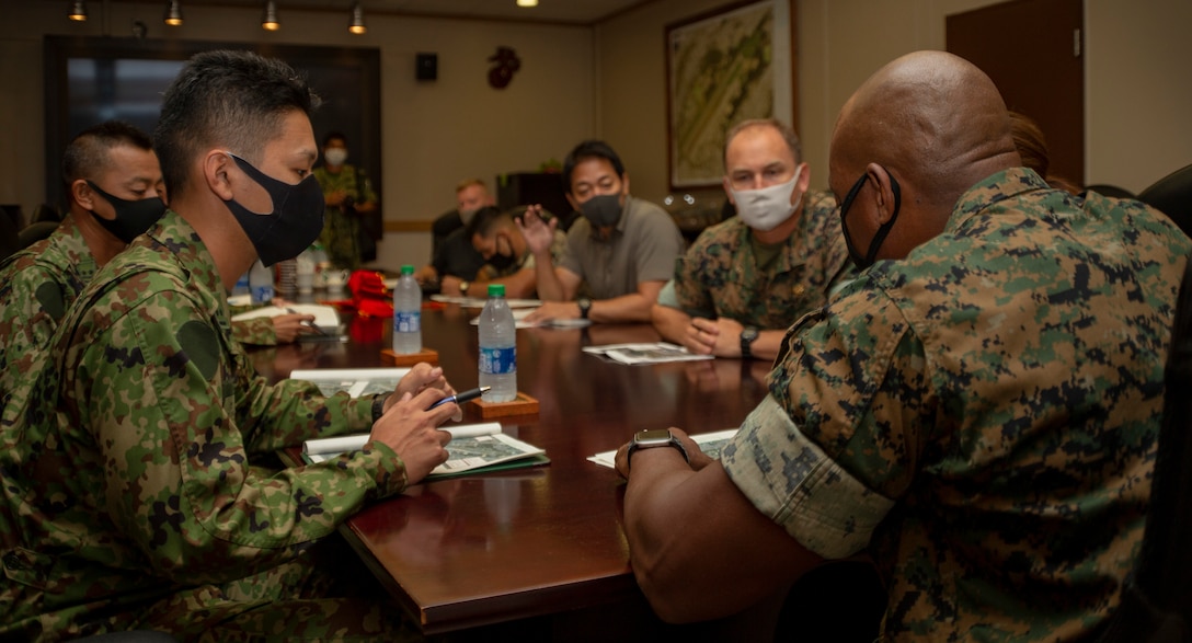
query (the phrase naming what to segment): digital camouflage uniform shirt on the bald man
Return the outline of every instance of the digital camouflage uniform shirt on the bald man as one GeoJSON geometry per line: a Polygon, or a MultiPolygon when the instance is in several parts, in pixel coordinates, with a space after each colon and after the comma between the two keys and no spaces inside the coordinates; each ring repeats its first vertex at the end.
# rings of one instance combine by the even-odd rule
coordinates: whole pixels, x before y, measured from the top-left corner
{"type": "Polygon", "coordinates": [[[793,327],[722,451],[809,550],[869,548],[882,641],[1070,641],[1142,541],[1192,244],[1136,201],[1016,168],[793,327]]]}

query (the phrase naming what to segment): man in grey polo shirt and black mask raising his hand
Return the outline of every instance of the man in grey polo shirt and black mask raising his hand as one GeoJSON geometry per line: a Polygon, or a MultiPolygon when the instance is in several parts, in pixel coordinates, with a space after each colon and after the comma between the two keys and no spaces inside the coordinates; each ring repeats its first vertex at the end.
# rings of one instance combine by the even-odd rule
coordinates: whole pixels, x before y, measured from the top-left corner
{"type": "Polygon", "coordinates": [[[557,264],[550,248],[558,219],[550,224],[526,211],[519,223],[538,262],[538,293],[546,302],[529,322],[590,319],[650,322],[650,308],[671,277],[683,237],[654,204],[629,196],[629,175],[602,141],[577,145],[563,163],[567,201],[583,218],[567,230],[567,249],[557,264]],[[583,286],[586,296],[578,296],[583,286]]]}

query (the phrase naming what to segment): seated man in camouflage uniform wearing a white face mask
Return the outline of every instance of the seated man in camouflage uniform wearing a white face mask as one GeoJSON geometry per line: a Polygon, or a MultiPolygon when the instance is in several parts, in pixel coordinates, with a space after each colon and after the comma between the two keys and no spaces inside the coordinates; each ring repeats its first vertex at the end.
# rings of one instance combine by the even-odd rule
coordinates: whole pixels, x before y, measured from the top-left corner
{"type": "Polygon", "coordinates": [[[718,357],[774,360],[787,327],[853,274],[831,194],[808,192],[799,137],[746,120],[725,144],[725,192],[737,217],[679,257],[651,311],[666,339],[718,357]]]}

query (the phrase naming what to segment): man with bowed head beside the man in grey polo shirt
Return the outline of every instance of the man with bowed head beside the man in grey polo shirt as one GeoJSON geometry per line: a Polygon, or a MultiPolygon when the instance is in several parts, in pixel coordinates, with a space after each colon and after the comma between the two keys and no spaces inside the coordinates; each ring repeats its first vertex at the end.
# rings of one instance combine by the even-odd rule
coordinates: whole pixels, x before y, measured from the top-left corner
{"type": "MultiPolygon", "coordinates": [[[[465,236],[485,261],[472,283],[474,292],[486,292],[489,283],[503,283],[509,298],[538,296],[534,269],[536,260],[526,244],[526,237],[514,223],[524,212],[526,207],[510,212],[502,212],[492,206],[482,207],[468,221],[465,236]]],[[[559,261],[566,245],[567,236],[561,230],[555,230],[551,243],[552,261],[559,261]]]]}

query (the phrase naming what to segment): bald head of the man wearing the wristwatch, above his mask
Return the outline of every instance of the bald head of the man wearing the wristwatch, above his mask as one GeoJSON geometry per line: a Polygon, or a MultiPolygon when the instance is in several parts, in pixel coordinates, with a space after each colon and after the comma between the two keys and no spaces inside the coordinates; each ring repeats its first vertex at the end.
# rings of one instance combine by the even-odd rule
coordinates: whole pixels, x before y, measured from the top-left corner
{"type": "Polygon", "coordinates": [[[918,187],[920,204],[949,211],[977,181],[1019,164],[998,88],[944,51],[908,54],[867,80],[840,111],[831,158],[832,171],[851,176],[880,163],[918,187]]]}

